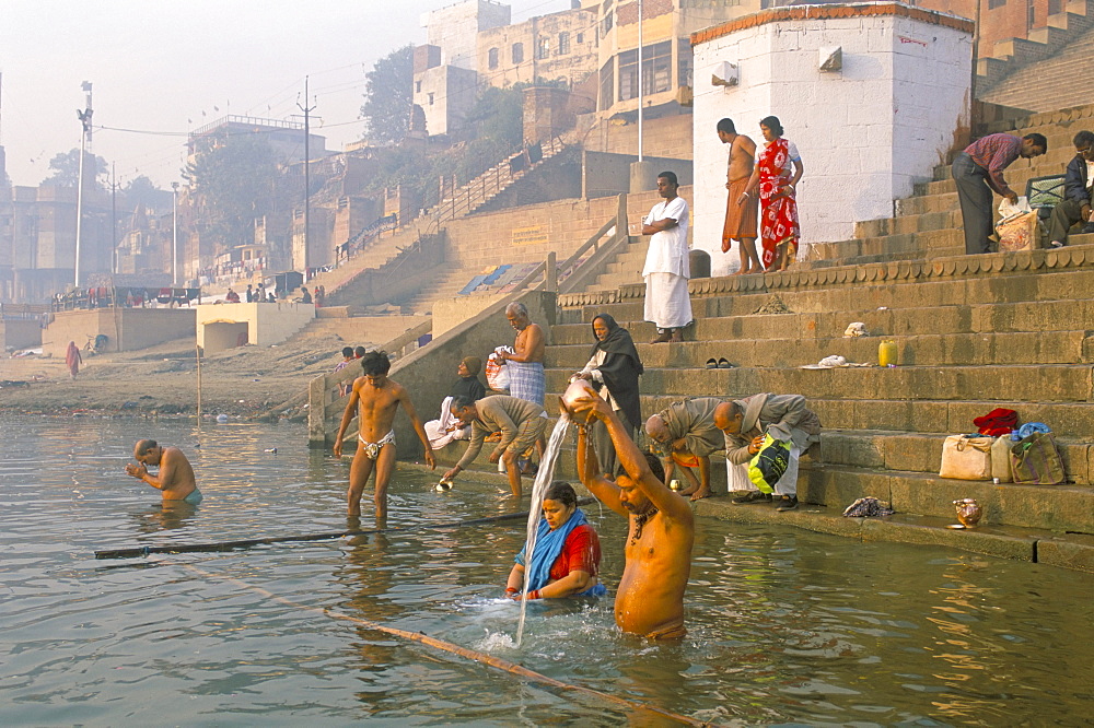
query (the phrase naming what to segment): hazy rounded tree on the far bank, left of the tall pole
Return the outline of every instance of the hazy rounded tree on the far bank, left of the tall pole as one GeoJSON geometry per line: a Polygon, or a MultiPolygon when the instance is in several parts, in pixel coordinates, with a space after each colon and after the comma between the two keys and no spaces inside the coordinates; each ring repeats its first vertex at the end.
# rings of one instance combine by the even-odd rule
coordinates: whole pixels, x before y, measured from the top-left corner
{"type": "Polygon", "coordinates": [[[194,188],[195,223],[223,248],[252,242],[257,218],[274,207],[278,162],[259,134],[220,132],[186,165],[183,176],[194,188]]]}

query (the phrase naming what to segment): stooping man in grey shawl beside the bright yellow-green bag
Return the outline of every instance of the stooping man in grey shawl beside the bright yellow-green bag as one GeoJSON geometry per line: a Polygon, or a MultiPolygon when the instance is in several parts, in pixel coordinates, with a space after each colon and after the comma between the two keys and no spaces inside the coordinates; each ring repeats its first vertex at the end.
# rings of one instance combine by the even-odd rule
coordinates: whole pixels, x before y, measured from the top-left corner
{"type": "MultiPolygon", "coordinates": [[[[821,418],[806,409],[801,395],[753,395],[722,402],[714,408],[714,426],[725,436],[725,459],[734,466],[747,463],[759,453],[764,435],[790,443],[790,465],[775,484],[775,503],[779,512],[798,507],[798,461],[810,445],[821,442],[821,418]]],[[[730,482],[748,482],[748,478],[730,482]]],[[[755,488],[748,482],[749,488],[755,488]]],[[[731,485],[732,488],[732,485],[731,485]]],[[[733,498],[741,505],[770,501],[771,496],[749,490],[733,498]]]]}

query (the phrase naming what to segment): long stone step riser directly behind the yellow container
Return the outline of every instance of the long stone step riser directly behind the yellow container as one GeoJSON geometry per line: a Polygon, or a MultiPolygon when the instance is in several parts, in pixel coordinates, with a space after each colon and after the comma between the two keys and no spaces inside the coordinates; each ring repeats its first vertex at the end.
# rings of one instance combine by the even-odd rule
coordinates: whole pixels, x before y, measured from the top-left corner
{"type": "MultiPolygon", "coordinates": [[[[644,334],[652,340],[653,326],[644,334]]],[[[644,327],[643,327],[644,328],[644,327]]],[[[641,330],[632,331],[640,334],[641,330]]],[[[842,336],[814,339],[756,338],[710,340],[672,347],[651,345],[640,352],[647,367],[703,367],[708,360],[728,359],[738,367],[796,367],[838,354],[848,362],[877,362],[882,337],[842,336]]],[[[920,333],[897,340],[897,363],[918,366],[1003,366],[1020,364],[1090,364],[1094,336],[1090,331],[1024,333],[920,333]]],[[[547,362],[554,367],[580,369],[589,360],[589,344],[552,345],[547,362]]]]}

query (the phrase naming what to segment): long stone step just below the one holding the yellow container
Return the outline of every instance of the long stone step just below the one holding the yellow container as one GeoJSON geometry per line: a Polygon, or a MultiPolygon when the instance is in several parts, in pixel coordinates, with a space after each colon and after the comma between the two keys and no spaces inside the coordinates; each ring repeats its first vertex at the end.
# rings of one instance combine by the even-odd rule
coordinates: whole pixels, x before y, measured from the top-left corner
{"type": "MultiPolygon", "coordinates": [[[[547,390],[565,390],[570,374],[566,369],[549,369],[547,390]]],[[[1090,364],[1009,365],[990,369],[981,365],[834,369],[647,367],[641,385],[643,391],[667,397],[773,391],[802,392],[811,398],[843,398],[851,402],[897,400],[915,394],[917,399],[923,400],[985,403],[1011,400],[1091,402],[1092,386],[1094,376],[1090,364]]]]}

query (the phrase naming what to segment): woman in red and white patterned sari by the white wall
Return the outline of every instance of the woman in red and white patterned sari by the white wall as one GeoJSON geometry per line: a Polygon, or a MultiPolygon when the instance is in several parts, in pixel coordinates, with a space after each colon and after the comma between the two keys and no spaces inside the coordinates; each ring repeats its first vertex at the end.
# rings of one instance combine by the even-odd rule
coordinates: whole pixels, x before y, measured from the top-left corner
{"type": "Polygon", "coordinates": [[[798,255],[798,239],[801,237],[794,196],[805,167],[794,142],[782,138],[782,125],[778,117],[766,117],[759,122],[759,128],[766,143],[756,154],[752,179],[737,203],[743,204],[759,188],[760,238],[764,246],[760,260],[768,270],[787,270],[798,255]]]}

